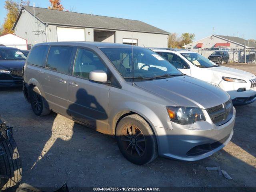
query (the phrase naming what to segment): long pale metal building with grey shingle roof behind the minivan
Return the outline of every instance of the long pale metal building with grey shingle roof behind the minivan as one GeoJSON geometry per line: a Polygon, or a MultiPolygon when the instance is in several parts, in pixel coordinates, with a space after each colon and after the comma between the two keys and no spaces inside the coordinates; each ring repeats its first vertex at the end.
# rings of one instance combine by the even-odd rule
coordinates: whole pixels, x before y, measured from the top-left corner
{"type": "Polygon", "coordinates": [[[145,47],[168,46],[168,32],[138,20],[23,6],[14,33],[34,45],[55,41],[99,41],[145,47]]]}

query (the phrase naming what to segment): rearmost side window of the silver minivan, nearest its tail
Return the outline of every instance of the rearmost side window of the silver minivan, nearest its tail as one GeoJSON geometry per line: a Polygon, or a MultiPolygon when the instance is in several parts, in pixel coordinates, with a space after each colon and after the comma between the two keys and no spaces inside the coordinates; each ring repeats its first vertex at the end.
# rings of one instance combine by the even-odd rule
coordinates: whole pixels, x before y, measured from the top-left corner
{"type": "Polygon", "coordinates": [[[33,47],[30,51],[29,57],[27,59],[28,64],[45,67],[46,55],[48,52],[47,45],[41,45],[33,47]]]}

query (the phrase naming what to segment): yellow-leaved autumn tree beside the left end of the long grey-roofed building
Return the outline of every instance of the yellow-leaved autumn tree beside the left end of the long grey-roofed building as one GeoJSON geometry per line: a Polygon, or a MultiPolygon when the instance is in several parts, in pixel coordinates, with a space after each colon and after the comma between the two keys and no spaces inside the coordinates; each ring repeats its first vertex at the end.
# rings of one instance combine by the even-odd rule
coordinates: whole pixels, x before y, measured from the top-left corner
{"type": "Polygon", "coordinates": [[[6,0],[4,8],[7,10],[6,18],[2,26],[2,34],[13,33],[12,26],[18,17],[19,10],[22,5],[29,5],[29,1],[20,0],[20,2],[14,2],[13,0],[6,0]]]}

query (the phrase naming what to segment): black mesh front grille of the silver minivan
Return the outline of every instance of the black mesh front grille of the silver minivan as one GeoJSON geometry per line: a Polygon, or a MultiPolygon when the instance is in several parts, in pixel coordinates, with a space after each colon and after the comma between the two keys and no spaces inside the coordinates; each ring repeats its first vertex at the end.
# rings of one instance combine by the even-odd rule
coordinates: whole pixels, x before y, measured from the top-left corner
{"type": "Polygon", "coordinates": [[[233,107],[231,100],[220,104],[218,106],[214,106],[206,109],[208,112],[212,122],[217,126],[223,125],[228,122],[232,118],[233,107]]]}

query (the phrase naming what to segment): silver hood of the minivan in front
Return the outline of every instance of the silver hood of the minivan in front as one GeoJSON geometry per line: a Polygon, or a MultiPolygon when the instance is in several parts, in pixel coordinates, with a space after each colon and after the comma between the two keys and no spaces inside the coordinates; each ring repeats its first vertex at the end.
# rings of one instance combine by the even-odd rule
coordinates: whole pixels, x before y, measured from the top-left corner
{"type": "Polygon", "coordinates": [[[169,100],[176,106],[210,108],[229,99],[222,89],[190,76],[135,82],[136,86],[169,100]]]}

